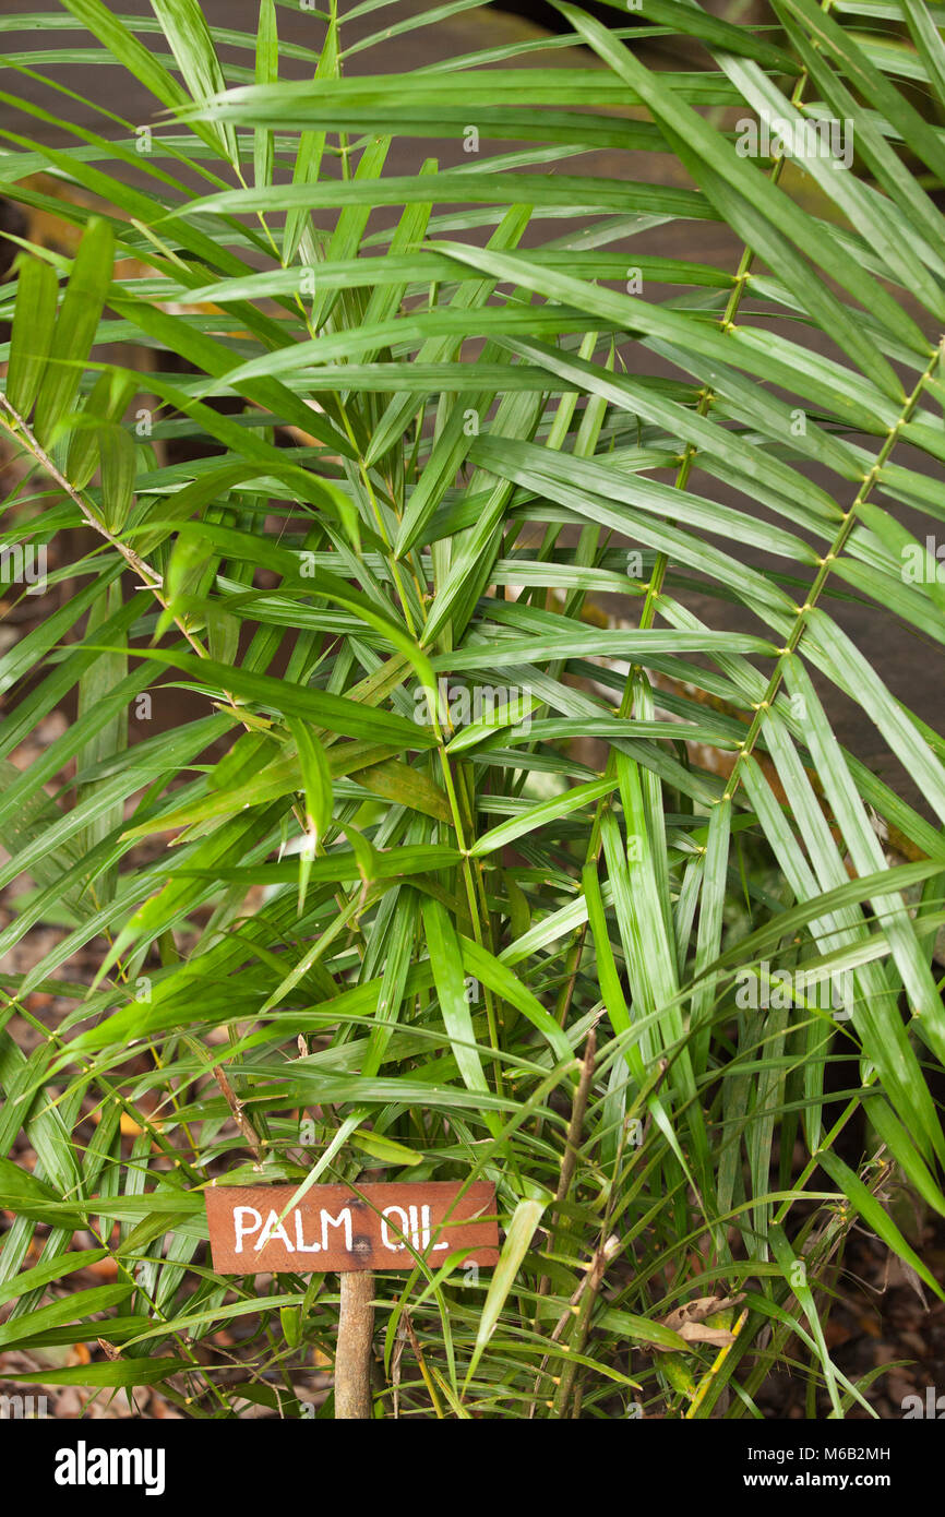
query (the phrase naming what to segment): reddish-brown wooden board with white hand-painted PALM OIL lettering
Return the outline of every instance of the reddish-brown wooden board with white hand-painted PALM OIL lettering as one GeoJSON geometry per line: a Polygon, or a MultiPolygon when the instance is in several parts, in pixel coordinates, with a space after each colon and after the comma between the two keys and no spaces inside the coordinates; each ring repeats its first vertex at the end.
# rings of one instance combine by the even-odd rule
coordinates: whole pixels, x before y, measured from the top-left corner
{"type": "Polygon", "coordinates": [[[413,1270],[416,1255],[438,1268],[457,1248],[473,1248],[466,1264],[493,1265],[499,1259],[496,1188],[479,1182],[463,1195],[461,1189],[443,1180],[355,1189],[312,1185],[290,1208],[296,1185],[209,1186],[214,1270],[413,1270]]]}

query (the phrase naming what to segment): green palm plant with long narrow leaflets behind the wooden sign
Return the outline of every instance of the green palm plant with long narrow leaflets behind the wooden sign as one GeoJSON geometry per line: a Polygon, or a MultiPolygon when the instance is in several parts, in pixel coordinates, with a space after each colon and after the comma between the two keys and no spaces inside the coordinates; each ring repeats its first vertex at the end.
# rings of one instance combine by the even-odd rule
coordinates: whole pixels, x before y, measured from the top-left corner
{"type": "Polygon", "coordinates": [[[0,980],[0,1349],[299,1415],[337,1280],[217,1276],[202,1188],[490,1179],[493,1274],[376,1277],[378,1415],[745,1417],[778,1365],[845,1415],[854,1221],[942,1296],[895,1198],[945,1212],[945,737],[842,628],[945,642],[940,12],[560,0],[554,55],[382,71],[469,8],[284,47],[273,0],[62,0],[8,53],[0,187],[76,246],[17,240],[0,302],[44,611],[0,655],[0,948],[58,930],[0,980]],[[648,67],[680,36],[702,68],[648,67]],[[731,264],[666,252],[705,228],[731,264]]]}

